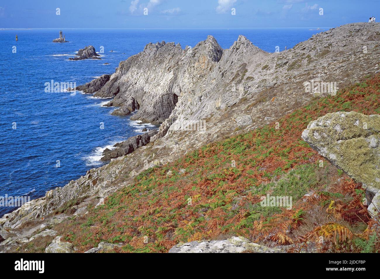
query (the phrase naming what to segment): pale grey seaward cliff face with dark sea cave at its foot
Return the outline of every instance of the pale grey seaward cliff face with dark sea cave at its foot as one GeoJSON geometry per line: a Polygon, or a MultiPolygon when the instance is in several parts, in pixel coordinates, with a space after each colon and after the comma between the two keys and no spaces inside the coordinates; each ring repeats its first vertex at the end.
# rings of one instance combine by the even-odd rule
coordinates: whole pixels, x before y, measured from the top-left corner
{"type": "Polygon", "coordinates": [[[170,116],[182,92],[204,79],[222,53],[212,36],[185,50],[174,43],[149,43],[144,51],[120,62],[116,73],[94,96],[116,95],[110,105],[120,109],[114,114],[139,109],[132,120],[160,124],[170,116]]]}

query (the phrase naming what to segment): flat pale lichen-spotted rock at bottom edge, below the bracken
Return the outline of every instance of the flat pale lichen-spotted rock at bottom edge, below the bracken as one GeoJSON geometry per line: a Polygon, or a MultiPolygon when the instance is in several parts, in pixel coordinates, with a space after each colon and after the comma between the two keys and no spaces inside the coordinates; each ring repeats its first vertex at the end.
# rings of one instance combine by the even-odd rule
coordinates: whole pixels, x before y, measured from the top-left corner
{"type": "Polygon", "coordinates": [[[288,248],[289,246],[269,248],[235,236],[225,240],[180,243],[172,247],[169,253],[286,253],[288,248]]]}

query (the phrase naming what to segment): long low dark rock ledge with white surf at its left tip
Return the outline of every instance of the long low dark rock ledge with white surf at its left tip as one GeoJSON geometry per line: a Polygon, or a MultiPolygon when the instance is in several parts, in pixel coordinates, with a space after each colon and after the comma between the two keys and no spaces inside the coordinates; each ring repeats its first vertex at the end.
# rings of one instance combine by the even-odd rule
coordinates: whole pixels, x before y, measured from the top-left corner
{"type": "Polygon", "coordinates": [[[109,161],[111,159],[130,154],[138,147],[148,144],[150,142],[150,138],[156,134],[157,129],[150,130],[142,135],[131,136],[128,140],[115,144],[114,147],[116,147],[116,149],[110,150],[106,148],[105,151],[103,151],[103,157],[101,157],[100,160],[109,161]]]}

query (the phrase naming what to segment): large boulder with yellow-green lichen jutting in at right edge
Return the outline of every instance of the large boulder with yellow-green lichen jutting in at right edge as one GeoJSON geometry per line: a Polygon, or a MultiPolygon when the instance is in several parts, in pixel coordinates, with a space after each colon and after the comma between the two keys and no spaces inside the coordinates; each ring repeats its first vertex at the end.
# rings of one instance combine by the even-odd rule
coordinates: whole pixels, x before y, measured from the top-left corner
{"type": "MultiPolygon", "coordinates": [[[[380,115],[328,113],[312,121],[302,138],[372,193],[380,190],[380,115]]],[[[371,198],[372,200],[372,198],[371,198]]]]}

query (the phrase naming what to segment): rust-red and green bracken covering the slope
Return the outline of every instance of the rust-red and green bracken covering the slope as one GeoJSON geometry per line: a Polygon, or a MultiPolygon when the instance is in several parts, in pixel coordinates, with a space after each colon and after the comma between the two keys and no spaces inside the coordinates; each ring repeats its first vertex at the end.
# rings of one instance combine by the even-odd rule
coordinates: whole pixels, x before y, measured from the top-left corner
{"type": "Polygon", "coordinates": [[[65,237],[79,252],[100,241],[122,243],[117,252],[168,252],[180,242],[232,235],[294,244],[293,252],[378,252],[379,224],[369,218],[361,185],[301,139],[310,121],[336,111],[379,114],[380,76],[149,168],[86,217],[71,217],[65,237]],[[261,206],[267,194],[292,196],[292,208],[261,206]]]}

